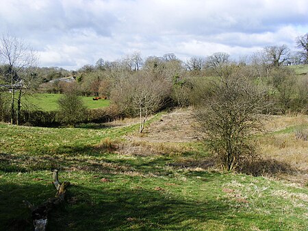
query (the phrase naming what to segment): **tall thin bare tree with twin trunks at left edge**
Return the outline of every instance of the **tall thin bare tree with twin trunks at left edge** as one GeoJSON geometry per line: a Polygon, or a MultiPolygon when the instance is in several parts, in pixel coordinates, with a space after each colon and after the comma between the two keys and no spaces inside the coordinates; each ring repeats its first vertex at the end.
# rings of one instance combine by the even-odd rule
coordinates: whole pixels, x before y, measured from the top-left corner
{"type": "Polygon", "coordinates": [[[31,68],[37,65],[38,56],[23,40],[10,34],[3,34],[0,40],[0,60],[3,64],[10,66],[10,73],[8,75],[12,90],[11,123],[14,123],[16,88],[20,89],[18,95],[18,114],[20,114],[21,97],[24,95],[23,89],[27,89],[30,86],[30,82],[25,85],[25,80],[27,77],[30,77],[30,79],[34,77],[31,74],[31,68]]]}

